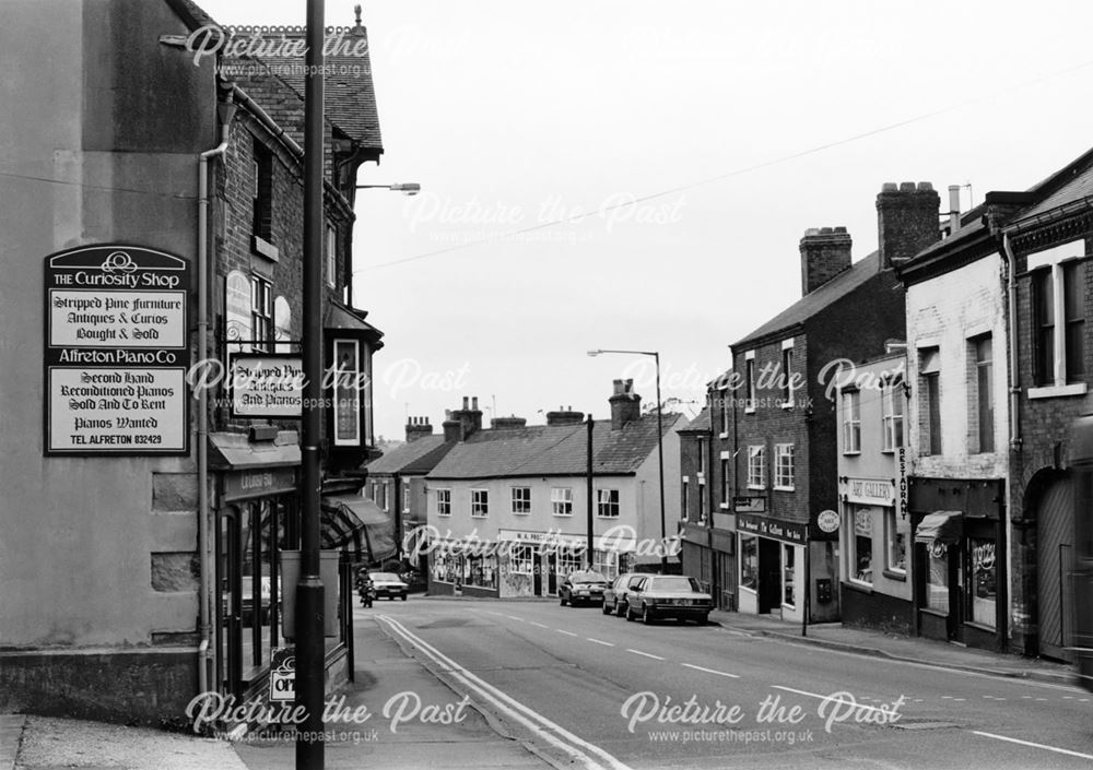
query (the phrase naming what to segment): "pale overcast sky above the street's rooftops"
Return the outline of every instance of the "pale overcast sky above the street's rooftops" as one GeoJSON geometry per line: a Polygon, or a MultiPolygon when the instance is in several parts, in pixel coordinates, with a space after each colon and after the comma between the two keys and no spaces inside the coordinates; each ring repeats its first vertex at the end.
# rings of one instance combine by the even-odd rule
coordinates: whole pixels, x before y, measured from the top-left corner
{"type": "MultiPolygon", "coordinates": [[[[204,0],[303,24],[304,0],[204,0]]],[[[352,0],[327,24],[352,25],[352,0]]],[[[799,241],[877,247],[888,181],[1022,190],[1093,144],[1093,3],[367,0],[385,153],[354,301],[385,332],[376,431],[478,396],[608,417],[612,380],[694,415],[728,345],[800,298],[799,241]]],[[[878,351],[880,353],[880,351],[878,351]]]]}

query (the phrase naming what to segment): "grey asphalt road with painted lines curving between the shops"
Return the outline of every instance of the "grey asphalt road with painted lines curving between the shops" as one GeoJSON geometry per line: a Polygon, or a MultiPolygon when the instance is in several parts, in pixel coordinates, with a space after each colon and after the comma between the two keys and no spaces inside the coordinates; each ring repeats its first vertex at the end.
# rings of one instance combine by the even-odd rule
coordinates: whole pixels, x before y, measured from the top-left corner
{"type": "Polygon", "coordinates": [[[1093,766],[1093,699],[1072,687],[546,602],[356,613],[559,766],[1093,766]]]}

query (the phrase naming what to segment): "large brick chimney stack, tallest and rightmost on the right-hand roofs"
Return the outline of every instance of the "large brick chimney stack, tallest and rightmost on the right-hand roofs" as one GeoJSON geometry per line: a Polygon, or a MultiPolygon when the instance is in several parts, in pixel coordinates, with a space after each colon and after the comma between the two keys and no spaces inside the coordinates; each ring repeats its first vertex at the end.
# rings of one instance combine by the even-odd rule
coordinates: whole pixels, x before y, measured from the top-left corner
{"type": "Polygon", "coordinates": [[[941,197],[928,181],[884,182],[877,196],[881,269],[910,259],[941,238],[941,197]]]}

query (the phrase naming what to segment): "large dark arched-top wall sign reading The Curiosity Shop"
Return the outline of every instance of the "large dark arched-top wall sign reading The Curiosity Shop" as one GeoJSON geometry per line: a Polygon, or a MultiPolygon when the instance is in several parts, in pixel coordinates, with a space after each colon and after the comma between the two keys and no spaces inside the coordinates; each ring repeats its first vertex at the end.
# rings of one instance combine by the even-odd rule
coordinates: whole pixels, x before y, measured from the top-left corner
{"type": "Polygon", "coordinates": [[[46,454],[184,454],[186,260],[138,246],[46,258],[46,454]]]}

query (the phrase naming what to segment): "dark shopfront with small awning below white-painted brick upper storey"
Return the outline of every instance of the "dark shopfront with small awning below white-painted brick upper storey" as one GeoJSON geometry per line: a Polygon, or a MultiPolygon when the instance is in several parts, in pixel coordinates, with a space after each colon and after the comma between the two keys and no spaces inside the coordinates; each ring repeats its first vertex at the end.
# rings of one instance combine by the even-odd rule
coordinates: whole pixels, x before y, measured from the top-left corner
{"type": "Polygon", "coordinates": [[[918,632],[1002,650],[1007,635],[1003,479],[912,476],[918,632]]]}

